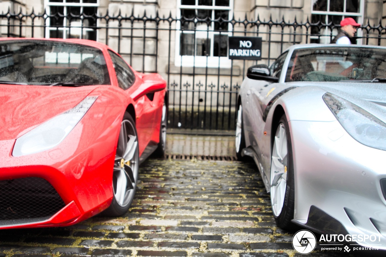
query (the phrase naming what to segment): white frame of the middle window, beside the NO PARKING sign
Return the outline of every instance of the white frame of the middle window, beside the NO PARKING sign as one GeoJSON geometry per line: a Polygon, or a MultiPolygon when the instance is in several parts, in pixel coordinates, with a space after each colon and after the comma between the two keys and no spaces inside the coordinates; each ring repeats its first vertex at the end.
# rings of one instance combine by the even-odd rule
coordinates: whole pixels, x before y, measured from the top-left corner
{"type": "MultiPolygon", "coordinates": [[[[220,0],[217,0],[220,1],[220,0]]],[[[234,0],[229,0],[229,7],[228,6],[215,6],[215,1],[213,1],[212,6],[210,5],[198,5],[198,0],[196,0],[196,5],[181,5],[181,0],[177,0],[177,19],[181,19],[181,9],[202,9],[202,10],[225,10],[229,11],[229,20],[232,20],[233,18],[233,6],[234,6],[234,0]]],[[[213,20],[213,12],[211,19],[213,20]]],[[[212,22],[213,26],[214,22],[212,22]]],[[[230,68],[232,65],[231,60],[228,58],[228,56],[188,56],[188,55],[180,55],[180,39],[181,34],[195,34],[195,42],[197,42],[198,38],[209,38],[211,39],[210,42],[210,52],[213,54],[213,45],[214,45],[214,35],[215,34],[222,34],[222,35],[228,35],[232,36],[232,24],[228,24],[228,32],[226,30],[224,32],[215,32],[210,30],[198,30],[196,28],[196,31],[182,31],[181,30],[181,22],[177,22],[176,24],[176,52],[175,52],[175,59],[174,59],[174,65],[175,66],[183,66],[183,67],[210,67],[210,68],[230,68]]],[[[195,44],[196,48],[196,44],[195,44]]],[[[196,51],[195,51],[196,52],[196,51]]]]}

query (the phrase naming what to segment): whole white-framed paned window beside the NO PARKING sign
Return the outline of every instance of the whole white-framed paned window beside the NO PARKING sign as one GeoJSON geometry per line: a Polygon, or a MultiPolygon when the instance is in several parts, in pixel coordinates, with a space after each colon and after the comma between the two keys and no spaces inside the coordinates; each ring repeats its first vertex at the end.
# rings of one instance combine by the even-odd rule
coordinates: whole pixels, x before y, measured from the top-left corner
{"type": "Polygon", "coordinates": [[[178,0],[176,66],[230,67],[233,0],[178,0]]]}

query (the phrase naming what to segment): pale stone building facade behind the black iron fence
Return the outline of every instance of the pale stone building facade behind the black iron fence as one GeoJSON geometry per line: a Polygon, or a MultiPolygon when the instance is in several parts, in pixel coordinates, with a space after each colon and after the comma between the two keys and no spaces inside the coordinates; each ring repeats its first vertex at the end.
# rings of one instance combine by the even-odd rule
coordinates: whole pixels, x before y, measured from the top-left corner
{"type": "MultiPolygon", "coordinates": [[[[385,24],[386,0],[0,0],[0,12],[31,14],[0,17],[2,36],[97,40],[134,69],[160,73],[171,92],[169,107],[178,108],[176,122],[181,113],[193,118],[212,107],[223,121],[234,113],[246,69],[256,64],[228,59],[228,36],[261,37],[258,63],[269,65],[294,43],[329,43],[338,27],[325,24],[339,24],[344,17],[385,24]],[[306,22],[320,24],[307,27],[306,22]]],[[[378,37],[385,33],[359,29],[357,44],[386,46],[378,37]]],[[[200,122],[205,123],[197,118],[200,122]]]]}

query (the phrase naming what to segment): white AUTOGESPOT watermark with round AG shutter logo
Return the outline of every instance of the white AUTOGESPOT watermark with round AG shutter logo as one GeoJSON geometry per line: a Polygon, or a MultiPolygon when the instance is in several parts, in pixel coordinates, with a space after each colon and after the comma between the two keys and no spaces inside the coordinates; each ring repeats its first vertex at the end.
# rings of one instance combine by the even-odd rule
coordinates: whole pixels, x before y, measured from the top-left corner
{"type": "MultiPolygon", "coordinates": [[[[321,235],[319,238],[320,250],[332,250],[350,252],[351,250],[379,250],[377,247],[380,245],[380,235],[342,235],[342,234],[329,234],[321,235]],[[354,243],[350,243],[354,242],[354,243]],[[349,243],[349,245],[344,245],[349,243]],[[364,247],[358,243],[369,244],[371,247],[364,247]],[[377,244],[378,243],[378,244],[377,244]]],[[[300,230],[295,233],[292,238],[293,249],[299,254],[309,254],[317,246],[317,238],[309,230],[300,230]]]]}

